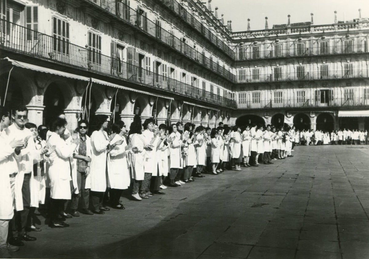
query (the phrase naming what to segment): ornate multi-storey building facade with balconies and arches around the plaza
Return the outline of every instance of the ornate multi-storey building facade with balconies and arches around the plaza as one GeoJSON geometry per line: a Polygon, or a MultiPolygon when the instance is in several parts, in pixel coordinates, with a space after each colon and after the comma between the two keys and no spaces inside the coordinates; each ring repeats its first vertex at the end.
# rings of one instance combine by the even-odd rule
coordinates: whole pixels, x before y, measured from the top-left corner
{"type": "Polygon", "coordinates": [[[0,105],[130,125],[369,127],[369,21],[232,32],[211,1],[1,0],[0,105]]]}

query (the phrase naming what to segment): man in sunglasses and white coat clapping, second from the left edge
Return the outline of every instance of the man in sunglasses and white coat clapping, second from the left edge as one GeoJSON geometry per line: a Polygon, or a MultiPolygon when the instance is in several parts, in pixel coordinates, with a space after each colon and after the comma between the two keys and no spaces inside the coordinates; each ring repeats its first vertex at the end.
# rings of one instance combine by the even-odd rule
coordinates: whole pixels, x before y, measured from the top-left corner
{"type": "Polygon", "coordinates": [[[15,182],[15,188],[22,189],[23,210],[17,211],[11,220],[12,233],[9,237],[11,245],[24,245],[23,241],[35,241],[36,238],[28,235],[26,232],[27,218],[30,212],[31,205],[31,185],[30,179],[33,173],[33,157],[32,154],[36,150],[35,142],[32,133],[24,124],[27,120],[28,109],[24,105],[19,105],[15,108],[15,113],[12,115],[14,123],[8,127],[10,139],[24,140],[23,147],[15,148],[15,154],[20,155],[17,161],[19,176],[15,182]]]}

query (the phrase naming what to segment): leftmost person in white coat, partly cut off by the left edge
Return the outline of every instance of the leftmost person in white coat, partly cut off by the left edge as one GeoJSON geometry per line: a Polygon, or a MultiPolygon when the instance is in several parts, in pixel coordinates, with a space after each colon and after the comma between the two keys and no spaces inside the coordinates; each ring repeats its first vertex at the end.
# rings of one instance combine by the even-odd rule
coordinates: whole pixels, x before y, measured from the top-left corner
{"type": "Polygon", "coordinates": [[[1,107],[0,116],[0,258],[10,258],[7,244],[9,222],[14,216],[14,209],[17,211],[23,209],[22,190],[15,188],[19,174],[14,149],[23,147],[24,140],[8,138],[9,110],[1,107]]]}

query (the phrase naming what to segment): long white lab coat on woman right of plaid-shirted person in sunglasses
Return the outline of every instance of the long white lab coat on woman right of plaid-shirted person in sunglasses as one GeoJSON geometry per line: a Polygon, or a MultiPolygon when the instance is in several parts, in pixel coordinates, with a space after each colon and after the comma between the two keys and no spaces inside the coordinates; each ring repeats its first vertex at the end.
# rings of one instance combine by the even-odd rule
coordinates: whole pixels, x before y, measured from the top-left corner
{"type": "Polygon", "coordinates": [[[106,159],[108,134],[95,130],[91,135],[92,157],[90,164],[91,191],[106,191],[106,159]]]}

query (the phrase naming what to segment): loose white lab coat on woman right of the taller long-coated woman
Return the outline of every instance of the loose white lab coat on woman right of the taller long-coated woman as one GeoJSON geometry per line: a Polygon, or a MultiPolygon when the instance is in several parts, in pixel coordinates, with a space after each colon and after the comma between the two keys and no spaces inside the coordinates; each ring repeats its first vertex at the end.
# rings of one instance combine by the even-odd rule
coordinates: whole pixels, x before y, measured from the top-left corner
{"type": "Polygon", "coordinates": [[[127,142],[118,134],[110,141],[110,144],[113,145],[122,139],[123,143],[121,145],[117,145],[110,150],[107,161],[108,187],[120,190],[127,189],[131,183],[130,170],[127,163],[127,153],[129,153],[129,150],[125,150],[127,142]]]}

